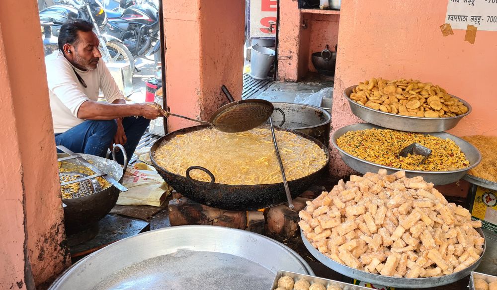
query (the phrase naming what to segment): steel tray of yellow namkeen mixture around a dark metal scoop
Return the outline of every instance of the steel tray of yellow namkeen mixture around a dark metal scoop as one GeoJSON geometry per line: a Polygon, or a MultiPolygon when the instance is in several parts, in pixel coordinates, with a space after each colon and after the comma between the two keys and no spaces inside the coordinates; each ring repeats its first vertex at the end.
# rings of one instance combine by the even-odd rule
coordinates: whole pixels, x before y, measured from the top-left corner
{"type": "Polygon", "coordinates": [[[368,123],[336,130],[331,142],[343,162],[362,174],[377,172],[381,168],[387,169],[388,173],[401,169],[408,177],[422,176],[434,185],[458,181],[482,159],[475,146],[445,132],[403,132],[368,123]],[[427,147],[431,154],[424,161],[422,155],[399,156],[413,143],[427,147]]]}

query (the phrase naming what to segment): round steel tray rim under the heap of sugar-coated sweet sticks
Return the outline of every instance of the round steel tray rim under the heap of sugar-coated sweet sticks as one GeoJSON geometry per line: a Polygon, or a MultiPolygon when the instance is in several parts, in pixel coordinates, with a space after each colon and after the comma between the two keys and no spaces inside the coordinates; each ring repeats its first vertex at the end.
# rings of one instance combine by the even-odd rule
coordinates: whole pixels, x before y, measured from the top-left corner
{"type": "MultiPolygon", "coordinates": [[[[482,237],[485,238],[485,235],[483,234],[481,228],[477,228],[476,230],[478,231],[478,233],[480,233],[482,237]]],[[[302,236],[302,241],[304,242],[304,245],[309,250],[309,252],[311,252],[311,254],[316,259],[318,259],[321,263],[325,264],[325,266],[327,266],[331,270],[334,270],[342,275],[363,282],[369,282],[382,286],[390,286],[395,288],[408,288],[408,289],[437,287],[437,286],[447,285],[463,279],[464,277],[470,275],[471,271],[475,270],[478,267],[478,265],[480,265],[480,262],[482,261],[483,255],[485,255],[485,250],[487,248],[487,243],[485,243],[483,245],[483,252],[480,255],[480,259],[478,259],[468,268],[450,275],[445,275],[441,277],[430,277],[430,278],[415,278],[415,279],[396,278],[391,276],[382,276],[378,274],[368,273],[335,262],[332,259],[328,258],[327,256],[323,255],[315,247],[313,247],[311,243],[307,240],[302,229],[300,230],[300,235],[302,236]]]]}

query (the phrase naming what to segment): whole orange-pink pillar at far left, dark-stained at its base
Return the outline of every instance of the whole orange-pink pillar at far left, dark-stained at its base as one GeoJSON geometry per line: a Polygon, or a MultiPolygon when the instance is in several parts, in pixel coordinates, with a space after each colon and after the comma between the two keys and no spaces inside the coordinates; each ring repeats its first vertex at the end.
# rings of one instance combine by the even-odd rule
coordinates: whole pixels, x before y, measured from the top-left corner
{"type": "Polygon", "coordinates": [[[43,289],[71,262],[38,9],[31,2],[18,21],[19,2],[0,1],[0,289],[43,289]]]}

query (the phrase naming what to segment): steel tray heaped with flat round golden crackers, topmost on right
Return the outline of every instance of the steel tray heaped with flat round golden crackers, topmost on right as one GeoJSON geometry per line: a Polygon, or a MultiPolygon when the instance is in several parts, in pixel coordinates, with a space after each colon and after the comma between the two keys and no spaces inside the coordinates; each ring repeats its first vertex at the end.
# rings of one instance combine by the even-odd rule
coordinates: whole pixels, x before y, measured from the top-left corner
{"type": "Polygon", "coordinates": [[[413,79],[373,77],[346,88],[343,94],[357,117],[401,131],[446,131],[471,112],[467,102],[444,88],[413,79]]]}

